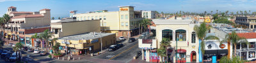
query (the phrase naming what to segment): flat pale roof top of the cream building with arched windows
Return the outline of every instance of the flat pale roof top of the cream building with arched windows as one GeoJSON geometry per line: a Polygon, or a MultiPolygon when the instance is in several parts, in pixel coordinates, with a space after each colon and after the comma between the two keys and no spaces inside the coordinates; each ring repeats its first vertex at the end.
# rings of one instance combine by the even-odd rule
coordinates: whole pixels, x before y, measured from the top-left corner
{"type": "Polygon", "coordinates": [[[154,24],[190,24],[192,20],[164,20],[164,19],[154,19],[154,24]]]}

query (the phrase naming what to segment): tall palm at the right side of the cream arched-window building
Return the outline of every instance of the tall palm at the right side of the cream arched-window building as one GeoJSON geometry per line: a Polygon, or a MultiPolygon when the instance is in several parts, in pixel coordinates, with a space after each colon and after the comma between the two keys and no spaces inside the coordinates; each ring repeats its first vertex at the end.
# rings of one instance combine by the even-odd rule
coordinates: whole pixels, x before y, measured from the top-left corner
{"type": "MultiPolygon", "coordinates": [[[[196,32],[196,36],[197,38],[199,39],[199,41],[202,41],[202,42],[199,42],[200,43],[200,50],[202,50],[202,54],[204,55],[204,47],[205,47],[205,44],[204,44],[204,40],[205,39],[218,39],[220,40],[218,37],[216,36],[206,36],[207,34],[207,26],[205,23],[202,23],[200,24],[200,26],[198,25],[195,25],[194,27],[194,31],[196,32]]],[[[203,59],[204,57],[202,57],[203,59]]]]}

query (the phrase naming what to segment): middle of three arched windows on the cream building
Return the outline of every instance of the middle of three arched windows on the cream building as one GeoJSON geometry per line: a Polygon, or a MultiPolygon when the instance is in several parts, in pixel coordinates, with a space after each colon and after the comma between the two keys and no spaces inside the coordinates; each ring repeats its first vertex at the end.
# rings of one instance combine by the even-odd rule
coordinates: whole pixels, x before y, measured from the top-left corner
{"type": "Polygon", "coordinates": [[[176,33],[176,39],[178,39],[178,41],[186,41],[186,30],[183,29],[179,29],[175,31],[176,33]]]}

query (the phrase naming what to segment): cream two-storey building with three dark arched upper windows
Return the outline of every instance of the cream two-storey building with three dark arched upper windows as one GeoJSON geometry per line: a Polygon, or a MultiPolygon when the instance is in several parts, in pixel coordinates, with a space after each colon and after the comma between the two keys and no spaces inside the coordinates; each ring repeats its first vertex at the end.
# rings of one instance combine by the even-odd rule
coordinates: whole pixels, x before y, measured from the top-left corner
{"type": "Polygon", "coordinates": [[[168,61],[170,62],[199,62],[198,38],[196,38],[192,20],[153,20],[156,24],[156,38],[139,39],[139,47],[143,52],[143,59],[154,62],[161,61],[156,50],[160,48],[163,38],[170,39],[171,47],[168,47],[168,61]],[[176,43],[177,41],[177,43],[176,43]],[[152,45],[152,46],[151,46],[152,45]],[[177,49],[175,49],[177,45],[177,49]],[[151,46],[151,47],[150,47],[151,46]],[[151,51],[150,51],[151,50],[151,51]],[[177,61],[175,52],[177,51],[177,61]],[[152,58],[148,58],[152,57],[152,58]]]}

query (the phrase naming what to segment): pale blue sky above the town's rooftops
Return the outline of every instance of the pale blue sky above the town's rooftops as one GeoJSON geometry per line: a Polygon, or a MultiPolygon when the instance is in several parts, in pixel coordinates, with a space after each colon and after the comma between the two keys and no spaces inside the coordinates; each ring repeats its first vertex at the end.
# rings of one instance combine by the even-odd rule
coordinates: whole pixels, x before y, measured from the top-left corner
{"type": "Polygon", "coordinates": [[[68,17],[69,11],[86,13],[95,10],[118,11],[118,6],[135,6],[134,10],[175,13],[189,11],[216,13],[218,11],[256,11],[256,0],[0,0],[0,17],[15,6],[17,11],[51,9],[51,17],[68,17]]]}

